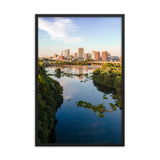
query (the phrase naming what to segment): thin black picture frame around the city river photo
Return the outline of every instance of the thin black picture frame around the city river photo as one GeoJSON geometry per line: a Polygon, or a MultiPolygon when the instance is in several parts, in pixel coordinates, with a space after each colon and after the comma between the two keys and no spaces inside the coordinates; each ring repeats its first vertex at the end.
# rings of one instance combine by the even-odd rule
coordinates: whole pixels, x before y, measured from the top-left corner
{"type": "Polygon", "coordinates": [[[35,146],[125,146],[125,15],[124,14],[35,14],[35,146]],[[122,18],[122,143],[121,144],[39,144],[38,143],[38,18],[40,17],[121,17],[122,18]]]}

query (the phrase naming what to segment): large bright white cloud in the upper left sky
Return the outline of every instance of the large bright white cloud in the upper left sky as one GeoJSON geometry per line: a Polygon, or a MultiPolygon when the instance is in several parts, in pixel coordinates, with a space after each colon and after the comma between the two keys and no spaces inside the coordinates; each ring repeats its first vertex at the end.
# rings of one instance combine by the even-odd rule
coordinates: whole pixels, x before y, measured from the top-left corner
{"type": "Polygon", "coordinates": [[[55,18],[47,21],[43,18],[38,19],[39,29],[46,31],[52,40],[60,40],[64,43],[78,43],[81,37],[72,37],[69,34],[78,28],[71,19],[55,18]]]}

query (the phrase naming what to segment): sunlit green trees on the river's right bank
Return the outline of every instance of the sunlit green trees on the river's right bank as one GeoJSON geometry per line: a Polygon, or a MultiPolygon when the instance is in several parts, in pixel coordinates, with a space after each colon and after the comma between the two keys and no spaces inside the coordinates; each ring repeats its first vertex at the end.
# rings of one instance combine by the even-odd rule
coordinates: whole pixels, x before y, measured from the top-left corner
{"type": "MultiPolygon", "coordinates": [[[[113,99],[116,99],[116,106],[122,108],[122,66],[120,64],[105,63],[93,72],[92,79],[95,84],[111,90],[113,99]]],[[[114,108],[113,105],[111,107],[114,108]]]]}

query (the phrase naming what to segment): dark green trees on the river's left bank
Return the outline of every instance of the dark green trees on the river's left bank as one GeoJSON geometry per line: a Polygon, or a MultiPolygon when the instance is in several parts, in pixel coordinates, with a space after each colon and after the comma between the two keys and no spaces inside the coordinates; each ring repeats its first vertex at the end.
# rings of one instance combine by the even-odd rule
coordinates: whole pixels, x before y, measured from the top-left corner
{"type": "Polygon", "coordinates": [[[47,143],[55,124],[55,112],[63,102],[59,82],[38,65],[38,143],[47,143]]]}

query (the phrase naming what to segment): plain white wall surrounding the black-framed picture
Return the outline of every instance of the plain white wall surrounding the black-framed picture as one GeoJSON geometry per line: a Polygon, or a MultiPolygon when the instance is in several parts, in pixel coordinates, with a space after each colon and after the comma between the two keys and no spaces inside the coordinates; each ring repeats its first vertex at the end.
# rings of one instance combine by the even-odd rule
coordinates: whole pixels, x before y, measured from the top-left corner
{"type": "Polygon", "coordinates": [[[0,159],[160,159],[158,2],[158,0],[1,1],[0,159]],[[125,147],[34,146],[35,13],[126,15],[125,147]]]}

